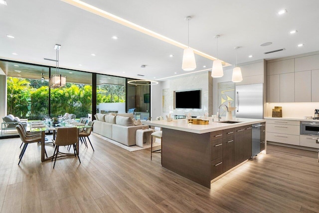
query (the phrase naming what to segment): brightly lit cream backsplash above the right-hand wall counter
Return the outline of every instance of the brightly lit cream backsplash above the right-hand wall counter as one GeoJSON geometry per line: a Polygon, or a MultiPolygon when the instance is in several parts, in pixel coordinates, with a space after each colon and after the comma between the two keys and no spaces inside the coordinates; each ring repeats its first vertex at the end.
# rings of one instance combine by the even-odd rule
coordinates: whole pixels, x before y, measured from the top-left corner
{"type": "Polygon", "coordinates": [[[304,116],[314,117],[315,109],[319,109],[319,102],[266,103],[264,117],[272,117],[272,109],[275,106],[283,107],[283,118],[303,118],[304,116]]]}

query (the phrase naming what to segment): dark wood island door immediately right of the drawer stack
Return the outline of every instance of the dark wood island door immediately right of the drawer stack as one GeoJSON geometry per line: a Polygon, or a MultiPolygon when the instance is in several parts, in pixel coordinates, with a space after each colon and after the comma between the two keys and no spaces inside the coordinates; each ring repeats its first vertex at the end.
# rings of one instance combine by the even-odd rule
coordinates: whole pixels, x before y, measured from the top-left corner
{"type": "Polygon", "coordinates": [[[223,138],[223,171],[226,172],[234,167],[234,136],[223,138]]]}

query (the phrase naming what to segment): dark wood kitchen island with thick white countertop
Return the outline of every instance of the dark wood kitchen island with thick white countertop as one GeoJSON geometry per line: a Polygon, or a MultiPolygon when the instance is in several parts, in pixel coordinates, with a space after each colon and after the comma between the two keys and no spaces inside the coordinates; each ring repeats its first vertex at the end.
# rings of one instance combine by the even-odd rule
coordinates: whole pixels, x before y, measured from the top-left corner
{"type": "Polygon", "coordinates": [[[209,118],[206,125],[188,124],[186,119],[143,124],[162,129],[162,167],[210,188],[212,181],[252,157],[254,141],[259,140],[258,151],[265,148],[265,120],[232,121],[236,123],[212,122],[209,118]]]}

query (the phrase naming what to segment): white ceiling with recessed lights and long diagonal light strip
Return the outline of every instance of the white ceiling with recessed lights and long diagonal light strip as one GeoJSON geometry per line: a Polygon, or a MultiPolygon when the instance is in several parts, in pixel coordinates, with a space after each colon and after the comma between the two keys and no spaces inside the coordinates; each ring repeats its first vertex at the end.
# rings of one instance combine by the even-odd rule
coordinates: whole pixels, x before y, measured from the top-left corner
{"type": "MultiPolygon", "coordinates": [[[[59,66],[63,68],[148,80],[193,72],[181,69],[182,48],[65,1],[6,0],[7,5],[0,4],[0,58],[55,66],[44,58],[56,59],[54,45],[60,44],[59,66]]],[[[217,57],[214,36],[220,34],[218,58],[230,64],[236,63],[236,46],[241,47],[237,63],[319,50],[318,0],[84,1],[184,45],[185,17],[191,15],[189,46],[217,57]],[[279,15],[281,9],[287,13],[279,15]],[[298,32],[290,34],[293,29],[298,32]],[[272,44],[260,46],[265,42],[272,44]],[[298,47],[300,43],[304,46],[298,47]],[[281,48],[285,50],[264,54],[281,48]]],[[[212,66],[207,57],[196,55],[195,59],[194,71],[212,66]]]]}

